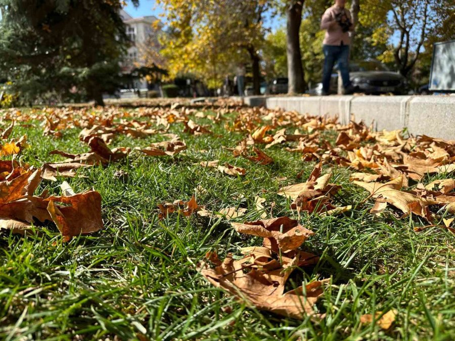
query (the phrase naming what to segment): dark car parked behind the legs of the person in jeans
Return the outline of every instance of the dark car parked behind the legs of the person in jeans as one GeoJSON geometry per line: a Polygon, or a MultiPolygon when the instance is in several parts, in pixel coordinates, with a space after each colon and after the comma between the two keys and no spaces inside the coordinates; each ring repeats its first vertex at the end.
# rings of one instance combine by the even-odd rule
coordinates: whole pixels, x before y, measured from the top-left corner
{"type": "MultiPolygon", "coordinates": [[[[332,74],[330,83],[331,93],[337,93],[338,89],[338,67],[335,70],[337,73],[332,74]]],[[[356,87],[355,92],[399,95],[407,94],[409,91],[409,84],[404,76],[398,72],[390,71],[387,66],[375,60],[351,62],[349,64],[349,78],[352,85],[356,87]]]]}

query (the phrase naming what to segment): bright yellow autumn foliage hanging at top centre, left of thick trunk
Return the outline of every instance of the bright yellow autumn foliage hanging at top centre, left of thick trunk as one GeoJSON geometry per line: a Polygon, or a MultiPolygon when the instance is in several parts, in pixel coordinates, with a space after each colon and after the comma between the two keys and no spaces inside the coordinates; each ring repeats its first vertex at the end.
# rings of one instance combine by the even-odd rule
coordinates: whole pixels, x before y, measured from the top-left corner
{"type": "Polygon", "coordinates": [[[265,0],[159,0],[168,34],[161,38],[170,77],[192,72],[218,87],[239,62],[257,57],[265,36],[265,0]]]}

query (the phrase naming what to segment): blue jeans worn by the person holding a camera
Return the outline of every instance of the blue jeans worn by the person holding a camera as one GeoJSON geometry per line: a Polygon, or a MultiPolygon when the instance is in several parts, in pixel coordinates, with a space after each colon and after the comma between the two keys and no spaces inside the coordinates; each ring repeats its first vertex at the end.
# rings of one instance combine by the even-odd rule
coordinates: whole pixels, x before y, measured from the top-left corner
{"type": "Polygon", "coordinates": [[[323,45],[324,69],[323,69],[323,92],[329,93],[332,70],[336,62],[341,72],[343,86],[346,89],[351,85],[349,80],[349,45],[323,45]]]}

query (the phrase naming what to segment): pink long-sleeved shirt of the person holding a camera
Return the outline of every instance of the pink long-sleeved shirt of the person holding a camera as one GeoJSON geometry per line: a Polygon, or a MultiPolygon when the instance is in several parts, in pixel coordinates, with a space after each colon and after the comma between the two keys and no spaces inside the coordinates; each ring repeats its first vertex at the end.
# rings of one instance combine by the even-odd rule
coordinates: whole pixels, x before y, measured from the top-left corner
{"type": "MultiPolygon", "coordinates": [[[[328,8],[321,19],[321,29],[327,30],[323,44],[339,46],[341,45],[341,42],[343,42],[343,45],[349,45],[351,43],[350,32],[343,32],[341,26],[338,24],[332,25],[332,23],[335,21],[335,16],[341,11],[345,11],[346,16],[352,22],[349,10],[345,8],[339,8],[335,5],[331,8],[328,8]]],[[[353,26],[351,26],[350,30],[353,30],[353,26]]]]}

